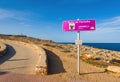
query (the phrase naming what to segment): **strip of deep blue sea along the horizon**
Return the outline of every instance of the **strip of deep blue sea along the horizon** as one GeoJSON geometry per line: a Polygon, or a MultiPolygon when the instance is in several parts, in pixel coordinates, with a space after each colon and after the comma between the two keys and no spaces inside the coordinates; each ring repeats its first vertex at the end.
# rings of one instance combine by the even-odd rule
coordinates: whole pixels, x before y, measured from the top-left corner
{"type": "MultiPolygon", "coordinates": [[[[58,42],[58,43],[60,43],[60,44],[75,44],[73,42],[58,42]]],[[[120,43],[83,43],[82,45],[99,48],[99,49],[120,51],[120,43]]]]}

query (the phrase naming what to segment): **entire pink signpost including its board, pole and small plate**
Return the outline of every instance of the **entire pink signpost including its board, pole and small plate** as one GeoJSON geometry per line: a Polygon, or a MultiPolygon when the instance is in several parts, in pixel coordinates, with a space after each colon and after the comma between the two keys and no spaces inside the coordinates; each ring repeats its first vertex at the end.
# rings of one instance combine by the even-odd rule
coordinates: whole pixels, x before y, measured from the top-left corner
{"type": "Polygon", "coordinates": [[[63,30],[65,32],[77,32],[76,44],[78,45],[78,74],[80,74],[80,31],[93,31],[95,30],[95,20],[70,20],[63,22],[63,30]]]}

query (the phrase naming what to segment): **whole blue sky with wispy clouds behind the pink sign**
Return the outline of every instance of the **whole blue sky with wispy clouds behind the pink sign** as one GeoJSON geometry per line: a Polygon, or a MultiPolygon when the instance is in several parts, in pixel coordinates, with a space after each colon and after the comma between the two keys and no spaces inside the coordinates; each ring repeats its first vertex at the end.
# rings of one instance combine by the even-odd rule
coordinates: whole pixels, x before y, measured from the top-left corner
{"type": "Polygon", "coordinates": [[[74,42],[77,33],[63,32],[62,22],[78,18],[96,20],[83,42],[120,43],[119,0],[0,0],[0,34],[74,42]]]}

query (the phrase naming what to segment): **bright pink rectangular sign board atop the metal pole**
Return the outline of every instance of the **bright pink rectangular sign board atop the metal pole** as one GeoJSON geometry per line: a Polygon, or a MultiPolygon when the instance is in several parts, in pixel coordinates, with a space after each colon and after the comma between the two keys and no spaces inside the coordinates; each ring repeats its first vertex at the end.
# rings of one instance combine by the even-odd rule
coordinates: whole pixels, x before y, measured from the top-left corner
{"type": "Polygon", "coordinates": [[[90,31],[95,30],[95,20],[71,20],[63,22],[64,31],[90,31]]]}

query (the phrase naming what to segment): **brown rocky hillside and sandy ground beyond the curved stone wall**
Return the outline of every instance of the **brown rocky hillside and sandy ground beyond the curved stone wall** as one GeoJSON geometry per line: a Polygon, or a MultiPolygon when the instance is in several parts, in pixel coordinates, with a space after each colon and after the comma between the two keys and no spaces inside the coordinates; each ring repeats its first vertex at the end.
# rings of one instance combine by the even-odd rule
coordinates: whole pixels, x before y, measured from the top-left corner
{"type": "Polygon", "coordinates": [[[47,50],[48,79],[72,82],[119,82],[120,74],[106,72],[109,65],[120,66],[120,52],[81,47],[81,75],[77,74],[77,46],[73,44],[57,44],[51,40],[41,40],[21,35],[0,35],[1,39],[34,43],[47,50]],[[89,54],[93,58],[85,59],[89,54]],[[83,57],[83,58],[82,58],[83,57]]]}

